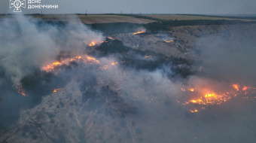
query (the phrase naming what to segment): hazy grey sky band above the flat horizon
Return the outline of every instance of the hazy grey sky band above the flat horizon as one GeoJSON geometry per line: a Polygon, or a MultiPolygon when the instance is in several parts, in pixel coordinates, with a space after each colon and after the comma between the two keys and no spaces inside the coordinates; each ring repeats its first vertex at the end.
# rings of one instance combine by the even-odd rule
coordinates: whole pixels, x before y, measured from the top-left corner
{"type": "MultiPolygon", "coordinates": [[[[24,14],[256,14],[255,0],[41,0],[56,9],[28,9],[28,1],[24,14]]],[[[9,5],[1,0],[0,14],[13,14],[9,5]]]]}

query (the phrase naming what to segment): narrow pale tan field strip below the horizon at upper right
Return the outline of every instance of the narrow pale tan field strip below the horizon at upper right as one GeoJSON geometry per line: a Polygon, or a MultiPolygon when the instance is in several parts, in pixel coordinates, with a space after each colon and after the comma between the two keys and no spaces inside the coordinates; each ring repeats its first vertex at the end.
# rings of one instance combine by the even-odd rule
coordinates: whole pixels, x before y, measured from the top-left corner
{"type": "Polygon", "coordinates": [[[153,14],[144,15],[145,17],[158,18],[160,20],[245,20],[254,21],[247,19],[235,19],[235,18],[225,18],[225,17],[207,17],[207,16],[195,16],[195,15],[175,15],[175,14],[153,14]]]}

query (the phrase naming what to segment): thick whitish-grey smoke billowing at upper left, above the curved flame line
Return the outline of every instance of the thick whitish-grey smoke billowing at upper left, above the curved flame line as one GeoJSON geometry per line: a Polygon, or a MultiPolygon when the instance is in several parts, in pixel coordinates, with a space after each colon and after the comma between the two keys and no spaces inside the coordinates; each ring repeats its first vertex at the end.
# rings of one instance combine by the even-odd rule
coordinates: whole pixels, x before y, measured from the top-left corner
{"type": "Polygon", "coordinates": [[[91,41],[103,40],[101,33],[74,20],[76,24],[61,27],[23,15],[0,21],[0,65],[5,68],[5,76],[19,85],[24,76],[53,62],[59,54],[76,55],[91,41]]]}

